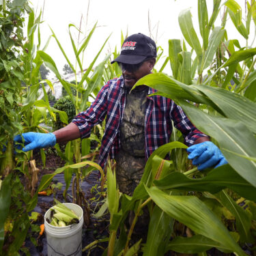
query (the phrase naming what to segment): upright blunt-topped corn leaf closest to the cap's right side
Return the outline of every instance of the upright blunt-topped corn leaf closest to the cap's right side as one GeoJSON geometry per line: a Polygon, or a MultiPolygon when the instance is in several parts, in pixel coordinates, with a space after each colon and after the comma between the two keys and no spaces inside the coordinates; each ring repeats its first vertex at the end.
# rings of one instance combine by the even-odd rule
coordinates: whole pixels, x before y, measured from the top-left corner
{"type": "Polygon", "coordinates": [[[173,78],[177,79],[177,72],[179,69],[179,60],[177,55],[182,51],[180,40],[169,40],[169,59],[171,63],[171,70],[173,72],[173,78]]]}

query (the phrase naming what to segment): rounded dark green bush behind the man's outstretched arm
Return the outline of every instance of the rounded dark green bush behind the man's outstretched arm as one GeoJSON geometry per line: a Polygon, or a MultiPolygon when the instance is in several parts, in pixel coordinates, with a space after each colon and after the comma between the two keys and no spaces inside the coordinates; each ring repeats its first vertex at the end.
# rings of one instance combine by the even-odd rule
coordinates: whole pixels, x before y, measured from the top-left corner
{"type": "MultiPolygon", "coordinates": [[[[65,111],[68,115],[68,123],[72,121],[74,116],[76,115],[76,109],[74,107],[74,104],[72,100],[68,96],[62,97],[53,106],[55,109],[58,109],[60,111],[65,111]]],[[[58,130],[63,128],[65,126],[63,122],[61,122],[61,119],[59,118],[59,114],[56,114],[56,122],[53,124],[54,130],[58,130]]]]}

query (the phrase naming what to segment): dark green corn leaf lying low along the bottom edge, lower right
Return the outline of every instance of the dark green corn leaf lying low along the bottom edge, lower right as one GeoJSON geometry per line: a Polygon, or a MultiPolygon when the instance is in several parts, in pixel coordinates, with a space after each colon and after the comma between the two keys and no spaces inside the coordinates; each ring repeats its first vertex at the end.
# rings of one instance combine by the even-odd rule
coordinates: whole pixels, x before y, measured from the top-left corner
{"type": "Polygon", "coordinates": [[[203,253],[214,247],[218,248],[220,251],[225,251],[225,253],[231,253],[227,246],[223,244],[221,245],[218,242],[201,235],[195,235],[192,238],[177,236],[167,246],[168,250],[188,254],[203,253]]]}

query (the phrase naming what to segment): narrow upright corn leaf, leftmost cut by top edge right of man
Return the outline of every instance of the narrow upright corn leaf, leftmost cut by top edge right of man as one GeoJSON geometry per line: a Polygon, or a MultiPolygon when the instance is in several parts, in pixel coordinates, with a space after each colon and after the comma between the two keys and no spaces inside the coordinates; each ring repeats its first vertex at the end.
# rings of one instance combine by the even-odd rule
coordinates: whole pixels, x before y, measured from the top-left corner
{"type": "Polygon", "coordinates": [[[208,48],[208,37],[210,30],[208,28],[208,10],[206,0],[198,0],[198,20],[200,33],[203,38],[203,49],[208,48]]]}

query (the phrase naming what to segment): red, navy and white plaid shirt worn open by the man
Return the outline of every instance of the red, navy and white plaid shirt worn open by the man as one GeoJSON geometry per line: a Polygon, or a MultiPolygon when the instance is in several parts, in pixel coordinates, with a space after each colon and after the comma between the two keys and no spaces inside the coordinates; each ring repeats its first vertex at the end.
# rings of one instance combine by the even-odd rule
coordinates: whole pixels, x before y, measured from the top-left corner
{"type": "MultiPolygon", "coordinates": [[[[148,94],[156,92],[149,87],[148,94]]],[[[100,156],[98,163],[104,168],[106,159],[115,158],[120,148],[119,127],[122,123],[124,108],[126,106],[126,92],[124,89],[124,79],[112,79],[98,93],[96,100],[89,109],[79,113],[72,122],[78,126],[81,138],[88,138],[91,128],[100,124],[106,117],[106,128],[102,138],[100,156]]],[[[147,96],[145,111],[145,157],[150,157],[152,152],[161,145],[169,143],[172,123],[179,129],[186,145],[190,146],[199,139],[206,136],[190,122],[188,117],[177,106],[173,100],[162,96],[147,96]]]]}

